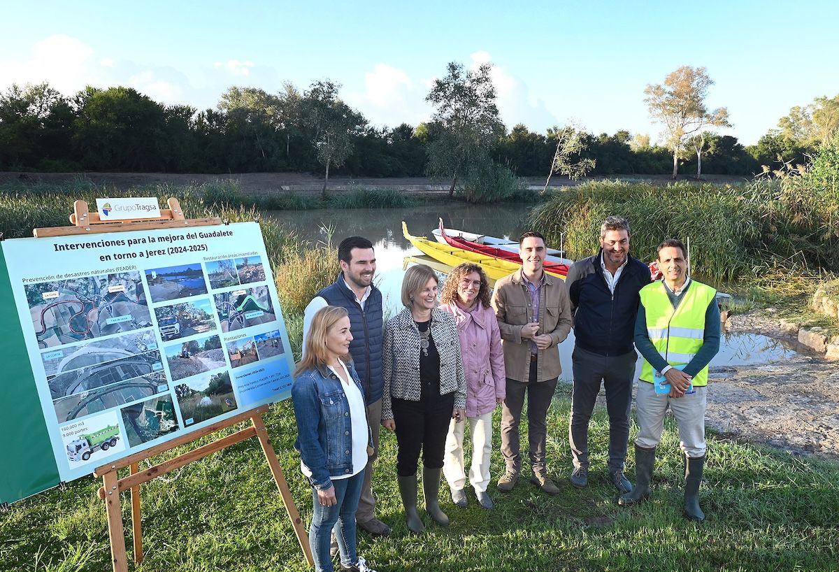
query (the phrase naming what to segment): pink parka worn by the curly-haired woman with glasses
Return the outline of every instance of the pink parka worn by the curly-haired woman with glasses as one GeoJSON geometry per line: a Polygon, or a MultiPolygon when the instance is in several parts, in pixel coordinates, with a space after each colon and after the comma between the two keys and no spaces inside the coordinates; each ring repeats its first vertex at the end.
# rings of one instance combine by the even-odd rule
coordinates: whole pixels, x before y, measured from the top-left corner
{"type": "Polygon", "coordinates": [[[466,375],[466,417],[489,413],[496,406],[496,398],[506,396],[507,388],[501,331],[495,311],[478,302],[470,312],[454,301],[440,304],[440,309],[455,317],[461,340],[466,375]]]}

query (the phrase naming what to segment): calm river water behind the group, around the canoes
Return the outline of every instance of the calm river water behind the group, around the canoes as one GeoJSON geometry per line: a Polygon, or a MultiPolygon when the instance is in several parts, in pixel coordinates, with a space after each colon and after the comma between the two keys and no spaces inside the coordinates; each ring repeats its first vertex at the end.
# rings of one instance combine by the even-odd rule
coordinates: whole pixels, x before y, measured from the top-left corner
{"type": "MultiPolygon", "coordinates": [[[[402,235],[402,221],[414,236],[431,236],[437,221],[443,217],[446,228],[479,232],[494,237],[516,239],[524,231],[524,218],[529,211],[524,205],[425,205],[406,209],[322,209],[315,211],[266,211],[275,221],[297,231],[300,238],[310,243],[326,242],[331,229],[333,243],[345,237],[367,237],[376,251],[376,284],[382,290],[386,315],[402,309],[399,289],[404,275],[404,257],[419,255],[402,235]]],[[[597,237],[591,237],[592,243],[597,237]]],[[[550,245],[559,247],[559,245],[550,245]]],[[[724,287],[722,288],[724,290],[724,287]]],[[[560,344],[562,377],[571,379],[571,351],[574,349],[574,332],[560,344]]],[[[743,366],[764,363],[795,354],[780,341],[764,335],[724,334],[720,352],[711,366],[743,366]]],[[[638,360],[640,371],[640,360],[638,360]]]]}

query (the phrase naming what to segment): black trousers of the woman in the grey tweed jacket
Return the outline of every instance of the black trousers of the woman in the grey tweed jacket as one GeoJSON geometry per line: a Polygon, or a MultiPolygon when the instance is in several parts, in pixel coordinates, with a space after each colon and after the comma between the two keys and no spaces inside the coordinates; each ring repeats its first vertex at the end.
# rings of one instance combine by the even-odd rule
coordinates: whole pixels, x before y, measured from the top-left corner
{"type": "Polygon", "coordinates": [[[455,394],[440,395],[423,387],[420,401],[393,398],[391,406],[399,445],[396,473],[399,476],[415,475],[420,450],[425,467],[442,469],[455,394]]]}

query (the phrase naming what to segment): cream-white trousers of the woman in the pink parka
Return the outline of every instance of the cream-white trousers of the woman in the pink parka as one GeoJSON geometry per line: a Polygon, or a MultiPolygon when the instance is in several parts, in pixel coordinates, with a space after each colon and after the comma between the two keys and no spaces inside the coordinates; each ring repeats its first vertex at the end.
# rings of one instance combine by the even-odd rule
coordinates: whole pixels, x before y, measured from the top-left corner
{"type": "MultiPolygon", "coordinates": [[[[476,492],[484,492],[489,485],[489,460],[492,455],[492,411],[470,417],[469,435],[472,438],[472,466],[469,469],[469,482],[476,492]]],[[[446,457],[443,460],[443,474],[453,491],[460,491],[466,485],[466,473],[463,465],[463,434],[466,421],[449,424],[446,435],[446,457]]]]}

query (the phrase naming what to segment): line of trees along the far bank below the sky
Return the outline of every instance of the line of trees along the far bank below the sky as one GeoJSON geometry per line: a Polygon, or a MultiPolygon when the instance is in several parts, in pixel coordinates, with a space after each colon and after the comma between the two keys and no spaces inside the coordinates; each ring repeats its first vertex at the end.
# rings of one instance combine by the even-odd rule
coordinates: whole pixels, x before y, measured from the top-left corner
{"type": "MultiPolygon", "coordinates": [[[[221,95],[215,109],[204,111],[166,106],[123,86],[89,86],[73,96],[48,84],[12,86],[0,95],[0,170],[290,171],[325,174],[327,179],[336,173],[430,174],[450,180],[452,188],[458,177],[498,177],[498,173],[477,173],[476,165],[516,176],[547,176],[557,141],[568,129],[535,133],[519,124],[508,130],[494,107],[488,70],[486,66],[466,71],[462,65],[450,64],[446,78],[435,81],[427,97],[436,109],[431,121],[398,127],[371,125],[361,112],[341,101],[340,86],[331,81],[316,81],[302,92],[290,83],[277,93],[233,86],[221,95]],[[466,104],[459,106],[465,87],[466,104]],[[483,98],[479,103],[484,107],[470,107],[476,97],[483,98]]],[[[764,164],[804,164],[806,156],[839,128],[839,96],[820,97],[794,107],[780,119],[779,128],[757,144],[744,146],[735,137],[713,132],[712,127],[728,125],[727,112],[701,107],[702,91],[699,99],[684,104],[700,106],[690,116],[694,123],[685,120],[670,130],[661,114],[670,110],[672,96],[685,81],[698,82],[694,87],[700,90],[712,83],[704,68],[685,66],[669,75],[664,86],[648,86],[645,91],[651,116],[668,127],[663,144],[651,142],[648,134],[626,130],[612,134],[577,130],[573,160],[592,159],[588,174],[596,175],[667,174],[671,169],[674,174],[695,174],[701,162],[702,174],[748,177],[764,164]],[[694,75],[685,78],[685,70],[694,75]]]]}

